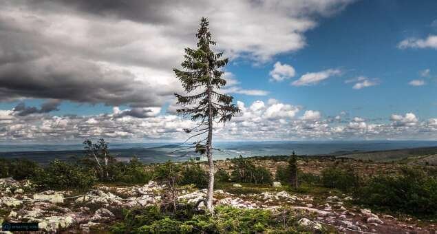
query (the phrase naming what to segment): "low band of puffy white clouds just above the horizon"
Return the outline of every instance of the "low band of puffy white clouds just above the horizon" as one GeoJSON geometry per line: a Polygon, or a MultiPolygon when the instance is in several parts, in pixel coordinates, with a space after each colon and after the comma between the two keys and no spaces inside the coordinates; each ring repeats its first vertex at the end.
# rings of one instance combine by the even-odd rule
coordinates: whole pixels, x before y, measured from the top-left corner
{"type": "MultiPolygon", "coordinates": [[[[217,140],[302,140],[302,139],[437,139],[437,118],[420,122],[412,113],[394,114],[390,123],[376,123],[355,117],[347,123],[333,122],[306,111],[296,118],[301,107],[278,100],[264,103],[237,101],[242,110],[224,125],[215,125],[217,140]],[[312,119],[312,120],[308,120],[312,119]]],[[[109,114],[92,116],[50,116],[49,114],[19,116],[13,110],[0,110],[0,142],[80,142],[83,138],[116,140],[184,140],[182,129],[194,123],[173,114],[145,111],[147,118],[136,118],[129,110],[114,108],[109,114]]],[[[143,113],[143,112],[140,112],[143,113]]],[[[143,113],[144,114],[144,113],[143,113]]]]}

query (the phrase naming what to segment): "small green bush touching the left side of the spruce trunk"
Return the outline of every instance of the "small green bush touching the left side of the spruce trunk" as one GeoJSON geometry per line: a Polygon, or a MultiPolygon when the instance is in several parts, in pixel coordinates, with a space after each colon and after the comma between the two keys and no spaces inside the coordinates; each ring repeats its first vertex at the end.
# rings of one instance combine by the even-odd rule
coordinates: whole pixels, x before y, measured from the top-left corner
{"type": "Polygon", "coordinates": [[[182,166],[182,177],[179,184],[195,184],[199,189],[205,189],[208,187],[208,174],[200,167],[200,164],[190,161],[182,166]]]}

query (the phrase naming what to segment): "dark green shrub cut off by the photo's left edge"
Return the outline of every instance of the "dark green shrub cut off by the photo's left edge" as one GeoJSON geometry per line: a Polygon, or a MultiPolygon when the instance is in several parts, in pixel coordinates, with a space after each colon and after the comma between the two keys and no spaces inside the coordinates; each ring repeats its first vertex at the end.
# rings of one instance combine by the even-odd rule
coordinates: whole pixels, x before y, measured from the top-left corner
{"type": "Polygon", "coordinates": [[[12,177],[15,180],[28,179],[35,175],[39,169],[36,162],[25,158],[12,160],[0,159],[0,178],[12,177]]]}

